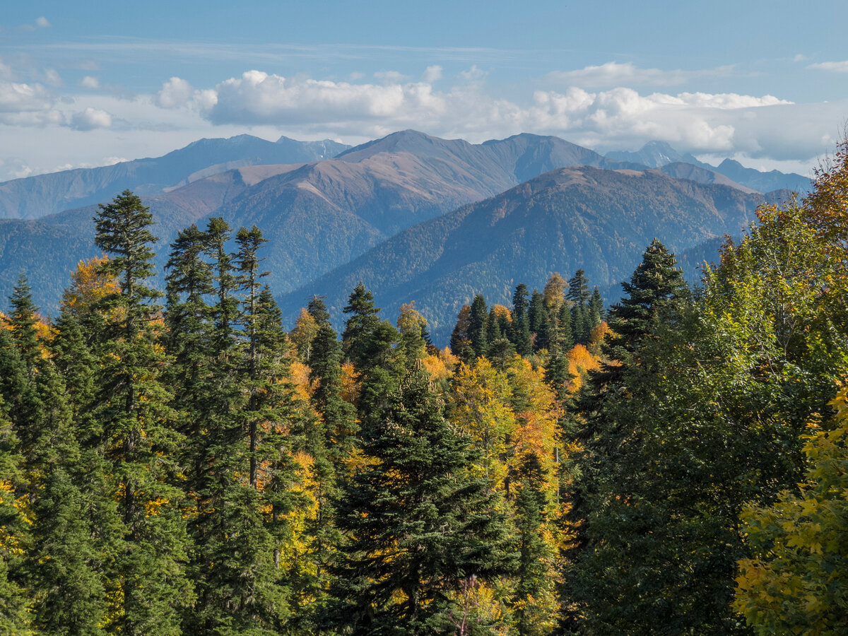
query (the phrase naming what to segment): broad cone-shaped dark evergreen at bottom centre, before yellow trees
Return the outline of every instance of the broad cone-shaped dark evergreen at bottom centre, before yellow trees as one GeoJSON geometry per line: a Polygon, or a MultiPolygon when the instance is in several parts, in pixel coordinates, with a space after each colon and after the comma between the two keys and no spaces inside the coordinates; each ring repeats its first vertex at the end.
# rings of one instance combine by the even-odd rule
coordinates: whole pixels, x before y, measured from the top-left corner
{"type": "Polygon", "coordinates": [[[444,420],[415,368],[387,396],[363,451],[373,461],[345,484],[334,622],[354,634],[440,633],[463,578],[508,571],[504,519],[467,470],[466,439],[444,420]]]}

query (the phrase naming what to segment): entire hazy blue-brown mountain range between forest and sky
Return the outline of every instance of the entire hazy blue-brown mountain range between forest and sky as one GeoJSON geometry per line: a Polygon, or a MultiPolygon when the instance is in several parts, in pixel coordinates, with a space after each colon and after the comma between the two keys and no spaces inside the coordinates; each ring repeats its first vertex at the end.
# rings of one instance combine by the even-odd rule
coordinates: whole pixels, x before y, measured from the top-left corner
{"type": "Polygon", "coordinates": [[[809,179],[718,167],[651,142],[606,156],[558,137],[480,144],[399,131],[338,142],[203,139],[163,157],[0,183],[0,294],[21,273],[53,314],[94,245],[98,203],[136,192],[157,225],[159,285],[181,229],[222,217],[258,226],[263,266],[290,324],[315,294],[339,321],[359,281],[387,316],[416,301],[444,343],[457,311],[484,293],[506,303],[516,282],[583,269],[608,302],[659,238],[694,276],[757,205],[806,192],[809,179]]]}

